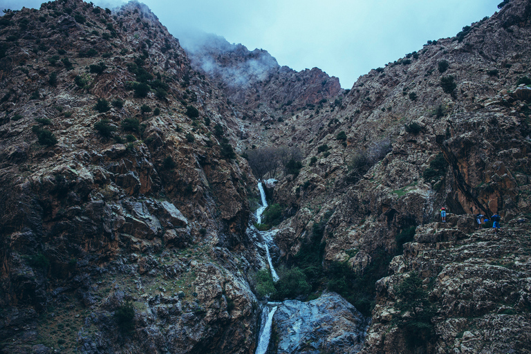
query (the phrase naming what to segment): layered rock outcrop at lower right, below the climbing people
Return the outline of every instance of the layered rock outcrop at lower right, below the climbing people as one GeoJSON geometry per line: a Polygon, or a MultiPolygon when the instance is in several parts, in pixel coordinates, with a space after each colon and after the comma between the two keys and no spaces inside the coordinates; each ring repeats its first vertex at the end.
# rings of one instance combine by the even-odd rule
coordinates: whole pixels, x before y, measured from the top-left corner
{"type": "Polygon", "coordinates": [[[419,226],[415,242],[393,259],[391,275],[377,283],[373,325],[362,353],[531,351],[528,227],[515,221],[500,234],[465,234],[457,223],[419,226]],[[436,315],[425,322],[431,333],[413,344],[407,326],[415,316],[400,310],[407,299],[398,295],[400,283],[412,273],[421,279],[427,299],[420,308],[436,307],[436,315]]]}

